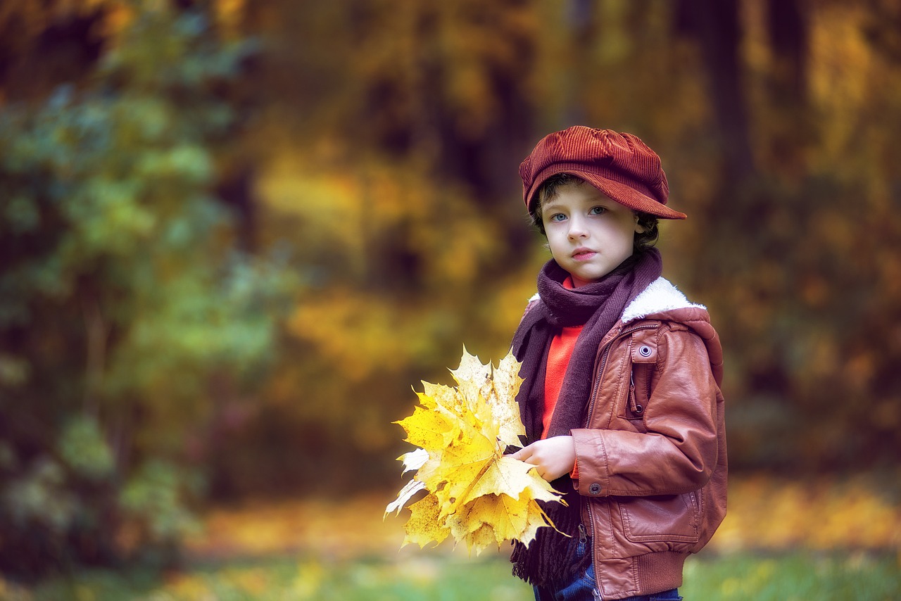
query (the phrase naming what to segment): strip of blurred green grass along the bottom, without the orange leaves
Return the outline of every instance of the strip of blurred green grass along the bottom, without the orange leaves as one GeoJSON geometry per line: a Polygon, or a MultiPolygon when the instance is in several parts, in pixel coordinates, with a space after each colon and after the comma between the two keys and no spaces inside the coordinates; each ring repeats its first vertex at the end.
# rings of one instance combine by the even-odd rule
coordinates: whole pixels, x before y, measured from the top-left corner
{"type": "MultiPolygon", "coordinates": [[[[901,598],[901,558],[863,551],[730,553],[688,560],[688,600],[807,601],[901,598]]],[[[0,583],[10,601],[530,601],[505,558],[415,551],[398,558],[328,561],[287,556],[197,565],[179,573],[89,571],[28,590],[0,583]]]]}

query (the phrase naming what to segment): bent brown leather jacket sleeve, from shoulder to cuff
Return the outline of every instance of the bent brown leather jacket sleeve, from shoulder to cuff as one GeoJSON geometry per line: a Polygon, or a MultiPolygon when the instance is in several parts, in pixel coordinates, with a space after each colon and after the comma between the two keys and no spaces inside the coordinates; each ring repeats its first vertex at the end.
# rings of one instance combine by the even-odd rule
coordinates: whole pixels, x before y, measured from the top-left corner
{"type": "Polygon", "coordinates": [[[647,433],[573,430],[578,491],[586,496],[676,495],[703,487],[716,466],[716,400],[704,341],[661,332],[659,377],[647,401],[647,433]]]}

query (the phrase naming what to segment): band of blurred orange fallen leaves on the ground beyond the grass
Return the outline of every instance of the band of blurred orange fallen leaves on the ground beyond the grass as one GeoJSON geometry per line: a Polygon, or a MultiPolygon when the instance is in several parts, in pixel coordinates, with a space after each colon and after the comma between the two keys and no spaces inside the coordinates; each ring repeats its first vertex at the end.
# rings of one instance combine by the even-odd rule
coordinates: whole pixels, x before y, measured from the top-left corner
{"type": "MultiPolygon", "coordinates": [[[[872,477],[733,478],[729,512],[709,549],[901,552],[901,503],[877,487],[872,477]]],[[[395,555],[404,533],[396,520],[383,520],[390,497],[386,492],[345,500],[259,501],[213,508],[205,514],[203,532],[187,542],[187,550],[204,558],[297,553],[344,560],[395,555]]],[[[444,543],[438,552],[450,550],[451,545],[444,543]]],[[[400,551],[423,552],[434,551],[411,547],[400,551]]]]}

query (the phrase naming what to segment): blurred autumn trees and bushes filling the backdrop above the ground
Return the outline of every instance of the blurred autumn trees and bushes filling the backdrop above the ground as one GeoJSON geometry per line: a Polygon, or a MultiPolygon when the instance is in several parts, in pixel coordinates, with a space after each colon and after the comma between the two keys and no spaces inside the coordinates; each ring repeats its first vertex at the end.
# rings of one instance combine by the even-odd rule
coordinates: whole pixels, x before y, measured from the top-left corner
{"type": "Polygon", "coordinates": [[[892,464],[899,25],[887,0],[5,2],[0,563],[166,557],[192,505],[396,487],[410,386],[506,351],[546,260],[516,169],[572,123],[663,158],[733,467],[892,464]]]}

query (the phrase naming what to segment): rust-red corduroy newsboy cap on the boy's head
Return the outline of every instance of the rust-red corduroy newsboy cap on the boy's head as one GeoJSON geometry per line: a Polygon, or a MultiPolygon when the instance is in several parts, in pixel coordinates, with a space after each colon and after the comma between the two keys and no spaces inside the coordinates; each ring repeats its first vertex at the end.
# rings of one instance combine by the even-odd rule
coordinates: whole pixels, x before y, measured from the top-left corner
{"type": "Polygon", "coordinates": [[[633,211],[661,219],[687,217],[666,205],[669,183],[660,157],[631,133],[573,125],[546,135],[519,166],[523,200],[530,213],[538,188],[558,173],[585,179],[633,211]]]}

